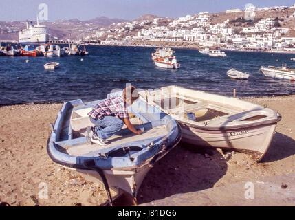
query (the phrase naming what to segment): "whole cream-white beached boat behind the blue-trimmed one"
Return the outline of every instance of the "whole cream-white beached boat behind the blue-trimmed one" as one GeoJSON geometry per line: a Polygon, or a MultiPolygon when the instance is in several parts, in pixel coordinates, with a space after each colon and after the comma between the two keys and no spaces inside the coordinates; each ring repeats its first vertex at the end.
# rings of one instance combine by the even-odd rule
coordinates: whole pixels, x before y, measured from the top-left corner
{"type": "Polygon", "coordinates": [[[176,86],[142,91],[141,97],[181,124],[183,142],[250,153],[257,161],[267,152],[281,120],[267,107],[176,86]]]}

